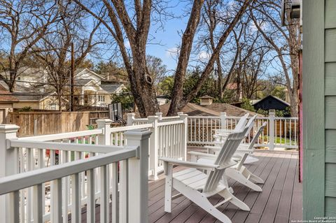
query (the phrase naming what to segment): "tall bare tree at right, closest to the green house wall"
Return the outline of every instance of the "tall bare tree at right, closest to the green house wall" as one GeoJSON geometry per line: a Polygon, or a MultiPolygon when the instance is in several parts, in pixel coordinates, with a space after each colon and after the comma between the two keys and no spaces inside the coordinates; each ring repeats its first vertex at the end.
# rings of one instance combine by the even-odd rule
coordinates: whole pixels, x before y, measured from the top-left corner
{"type": "Polygon", "coordinates": [[[301,48],[300,23],[290,19],[286,12],[287,27],[281,27],[281,1],[257,0],[250,7],[255,27],[265,38],[269,47],[276,53],[282,68],[290,98],[290,113],[297,116],[298,53],[301,48]]]}

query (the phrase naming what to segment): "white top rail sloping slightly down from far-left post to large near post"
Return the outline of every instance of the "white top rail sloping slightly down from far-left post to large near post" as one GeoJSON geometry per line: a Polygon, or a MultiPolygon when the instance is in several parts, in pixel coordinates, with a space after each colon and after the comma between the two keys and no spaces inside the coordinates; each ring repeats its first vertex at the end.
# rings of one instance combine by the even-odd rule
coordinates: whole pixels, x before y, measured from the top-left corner
{"type": "Polygon", "coordinates": [[[57,142],[40,142],[40,141],[23,141],[23,140],[9,140],[10,146],[13,148],[34,148],[34,149],[48,149],[48,150],[67,150],[76,152],[116,152],[123,150],[121,146],[111,145],[90,145],[90,144],[76,144],[76,143],[57,143],[57,142]]]}

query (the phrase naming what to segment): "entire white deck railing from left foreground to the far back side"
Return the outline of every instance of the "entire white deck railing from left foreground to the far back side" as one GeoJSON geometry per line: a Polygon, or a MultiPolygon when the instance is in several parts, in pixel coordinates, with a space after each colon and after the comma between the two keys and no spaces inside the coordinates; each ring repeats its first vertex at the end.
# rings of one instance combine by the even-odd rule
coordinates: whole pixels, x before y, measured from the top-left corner
{"type": "MultiPolygon", "coordinates": [[[[113,219],[120,218],[123,220],[120,222],[125,222],[128,217],[132,222],[133,215],[129,216],[127,210],[139,207],[135,207],[136,203],[134,207],[129,203],[127,193],[133,192],[126,187],[144,182],[143,173],[146,173],[146,180],[148,175],[153,180],[158,179],[158,173],[163,169],[159,157],[186,159],[187,143],[209,145],[213,143],[216,129],[234,129],[240,118],[228,117],[225,113],[218,117],[188,117],[183,113],[175,117],[162,117],[157,113],[146,119],[137,119],[134,114],[127,116],[127,127],[111,128],[111,120],[97,120],[97,129],[94,130],[23,138],[16,137],[19,127],[0,125],[0,194],[7,194],[0,196],[0,216],[8,217],[8,221],[14,217],[14,222],[35,219],[59,222],[62,216],[66,222],[69,213],[78,218],[80,208],[87,205],[90,209],[87,217],[92,220],[91,205],[94,202],[102,204],[101,219],[104,219],[109,216],[106,203],[111,201],[112,206],[118,207],[120,201],[119,206],[123,207],[119,208],[119,213],[113,209],[113,219]],[[138,147],[149,153],[149,159],[146,156],[146,161],[141,161],[141,170],[140,164],[134,161],[134,156],[139,157],[139,151],[134,153],[138,147]],[[104,162],[108,159],[106,157],[110,162],[104,162]],[[128,171],[131,166],[135,172],[128,171]],[[11,184],[13,187],[9,188],[11,184]],[[118,201],[113,200],[117,192],[120,193],[118,201]]],[[[251,141],[253,132],[263,122],[267,122],[267,127],[258,140],[258,146],[270,150],[274,147],[297,148],[297,118],[274,117],[274,113],[257,118],[246,143],[251,141]]],[[[147,193],[142,191],[142,194],[147,193]]],[[[147,201],[142,195],[139,199],[147,201]]],[[[134,222],[139,222],[139,219],[134,222]]]]}

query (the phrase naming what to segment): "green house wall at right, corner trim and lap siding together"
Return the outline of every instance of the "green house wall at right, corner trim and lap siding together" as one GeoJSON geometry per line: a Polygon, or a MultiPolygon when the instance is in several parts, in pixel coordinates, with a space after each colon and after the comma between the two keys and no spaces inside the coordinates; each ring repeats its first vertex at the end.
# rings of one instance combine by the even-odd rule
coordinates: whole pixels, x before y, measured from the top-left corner
{"type": "Polygon", "coordinates": [[[303,216],[336,216],[336,1],[303,1],[303,216]]]}

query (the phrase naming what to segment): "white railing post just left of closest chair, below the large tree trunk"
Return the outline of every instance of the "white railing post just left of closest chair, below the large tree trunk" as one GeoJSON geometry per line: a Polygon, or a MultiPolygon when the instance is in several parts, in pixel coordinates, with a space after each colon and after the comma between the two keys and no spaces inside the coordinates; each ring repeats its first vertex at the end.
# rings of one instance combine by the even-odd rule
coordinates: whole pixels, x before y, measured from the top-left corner
{"type": "Polygon", "coordinates": [[[151,138],[149,139],[149,169],[151,170],[151,180],[158,180],[158,116],[148,116],[148,123],[153,124],[153,127],[150,128],[151,138]]]}

